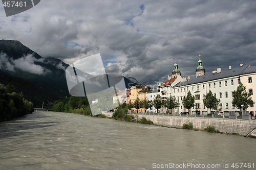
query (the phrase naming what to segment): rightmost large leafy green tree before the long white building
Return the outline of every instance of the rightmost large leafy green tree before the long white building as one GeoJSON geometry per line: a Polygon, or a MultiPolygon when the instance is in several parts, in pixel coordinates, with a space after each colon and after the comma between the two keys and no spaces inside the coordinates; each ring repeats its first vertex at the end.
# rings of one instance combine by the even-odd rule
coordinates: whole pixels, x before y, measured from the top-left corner
{"type": "Polygon", "coordinates": [[[232,105],[240,109],[240,114],[242,113],[242,108],[246,110],[250,104],[254,104],[251,94],[246,91],[246,87],[242,83],[239,84],[237,90],[234,90],[232,94],[232,105]]]}

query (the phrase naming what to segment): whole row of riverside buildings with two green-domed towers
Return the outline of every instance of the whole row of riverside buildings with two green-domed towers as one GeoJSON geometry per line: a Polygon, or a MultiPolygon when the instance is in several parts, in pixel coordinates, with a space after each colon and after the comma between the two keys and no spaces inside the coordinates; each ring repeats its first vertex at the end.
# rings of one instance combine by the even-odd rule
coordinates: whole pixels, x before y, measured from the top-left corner
{"type": "MultiPolygon", "coordinates": [[[[188,111],[184,108],[181,101],[184,96],[187,95],[187,92],[190,91],[191,94],[195,96],[195,107],[190,109],[189,114],[207,114],[209,113],[209,109],[204,106],[203,99],[209,90],[211,90],[216,98],[221,101],[217,111],[228,114],[229,111],[240,111],[232,105],[232,92],[237,90],[240,83],[243,83],[247,92],[251,93],[252,100],[256,102],[256,94],[253,94],[253,91],[256,91],[255,82],[256,66],[241,63],[238,67],[232,68],[229,66],[228,69],[224,71],[222,71],[221,68],[217,68],[217,70],[212,71],[210,74],[205,74],[205,68],[200,58],[196,68],[196,79],[194,80],[190,80],[190,77],[186,78],[181,76],[181,71],[178,69],[178,64],[175,62],[174,70],[171,75],[168,75],[168,80],[163,83],[159,82],[156,90],[145,85],[137,85],[131,87],[131,89],[120,91],[117,95],[120,96],[119,101],[126,103],[134,103],[137,98],[140,100],[147,99],[153,101],[157,95],[160,95],[162,100],[165,100],[172,95],[175,96],[180,103],[180,106],[173,109],[172,112],[180,114],[188,111]]],[[[140,109],[139,111],[144,112],[145,109],[140,109]]],[[[156,109],[153,107],[152,110],[147,111],[156,112],[156,109]]],[[[163,107],[160,111],[166,112],[166,108],[163,107]]],[[[255,115],[256,106],[254,107],[253,104],[250,105],[247,111],[255,115]]]]}

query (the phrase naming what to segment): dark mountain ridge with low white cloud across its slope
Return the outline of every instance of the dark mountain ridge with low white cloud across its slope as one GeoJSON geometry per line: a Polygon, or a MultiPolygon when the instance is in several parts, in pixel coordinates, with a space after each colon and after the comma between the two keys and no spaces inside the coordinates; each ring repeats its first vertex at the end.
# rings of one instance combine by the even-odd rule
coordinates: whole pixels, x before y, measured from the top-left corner
{"type": "MultiPolygon", "coordinates": [[[[16,40],[0,40],[0,83],[13,84],[35,107],[70,96],[66,81],[69,65],[53,57],[42,58],[16,40]]],[[[126,88],[139,84],[124,77],[126,88]]]]}

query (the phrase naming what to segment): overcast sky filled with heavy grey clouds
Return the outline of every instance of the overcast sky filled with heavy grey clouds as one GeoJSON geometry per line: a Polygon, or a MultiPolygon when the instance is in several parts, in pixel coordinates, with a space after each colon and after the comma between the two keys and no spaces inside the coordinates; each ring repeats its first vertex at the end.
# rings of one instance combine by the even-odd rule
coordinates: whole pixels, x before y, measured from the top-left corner
{"type": "Polygon", "coordinates": [[[9,17],[1,5],[0,39],[67,64],[100,53],[106,72],[155,85],[168,79],[175,58],[192,78],[199,54],[206,73],[256,65],[255,16],[254,0],[41,0],[9,17]]]}

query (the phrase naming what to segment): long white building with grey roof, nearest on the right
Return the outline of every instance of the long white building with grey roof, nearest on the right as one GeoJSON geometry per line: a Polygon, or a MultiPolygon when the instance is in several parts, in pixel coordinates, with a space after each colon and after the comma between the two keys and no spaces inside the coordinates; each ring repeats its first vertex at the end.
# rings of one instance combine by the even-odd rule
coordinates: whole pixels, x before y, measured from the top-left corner
{"type": "MultiPolygon", "coordinates": [[[[202,63],[202,61],[199,60],[198,63],[202,63]]],[[[203,104],[203,99],[209,90],[211,90],[217,99],[221,100],[220,106],[217,109],[218,111],[223,111],[226,115],[228,114],[228,111],[239,112],[240,110],[238,108],[232,106],[232,91],[237,90],[240,82],[248,82],[248,77],[252,77],[252,75],[253,77],[255,76],[256,69],[249,67],[249,65],[245,66],[241,64],[240,67],[236,68],[229,66],[229,69],[226,71],[222,71],[221,68],[218,68],[217,70],[212,71],[211,74],[202,75],[201,73],[200,75],[197,75],[198,77],[195,80],[176,84],[172,88],[172,95],[176,96],[180,102],[180,106],[175,109],[175,113],[179,114],[181,112],[188,111],[184,108],[181,102],[182,98],[187,95],[188,91],[195,96],[195,107],[191,108],[189,114],[195,114],[196,112],[200,112],[201,114],[209,113],[209,109],[207,109],[203,104]],[[247,74],[248,71],[250,71],[250,74],[247,74]]],[[[202,70],[203,67],[201,65],[199,71],[202,70]]],[[[256,80],[256,76],[254,79],[256,80]]],[[[246,84],[244,85],[246,86],[246,84]]],[[[248,87],[248,90],[252,91],[253,88],[254,87],[251,84],[251,86],[248,87]]],[[[251,107],[253,107],[253,105],[251,107]]],[[[250,108],[248,110],[254,111],[255,109],[250,108]]]]}

